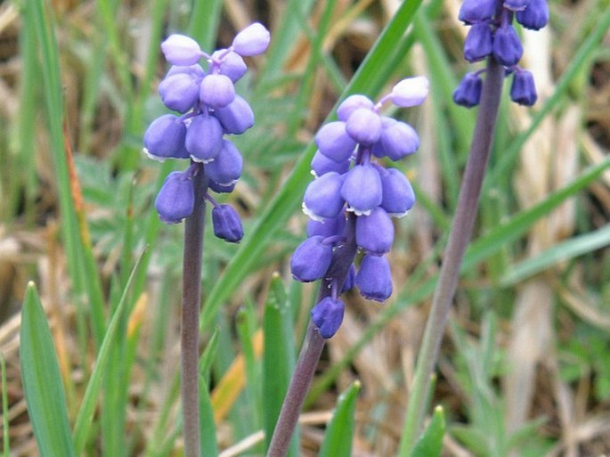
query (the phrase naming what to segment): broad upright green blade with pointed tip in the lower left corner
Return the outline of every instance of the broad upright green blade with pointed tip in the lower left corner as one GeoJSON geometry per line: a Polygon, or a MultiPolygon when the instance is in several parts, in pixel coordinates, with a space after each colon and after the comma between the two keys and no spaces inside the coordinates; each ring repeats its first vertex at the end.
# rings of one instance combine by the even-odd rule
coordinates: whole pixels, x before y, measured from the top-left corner
{"type": "Polygon", "coordinates": [[[66,398],[53,336],[36,286],[28,284],[21,313],[21,378],[42,457],[74,457],[66,398]]]}

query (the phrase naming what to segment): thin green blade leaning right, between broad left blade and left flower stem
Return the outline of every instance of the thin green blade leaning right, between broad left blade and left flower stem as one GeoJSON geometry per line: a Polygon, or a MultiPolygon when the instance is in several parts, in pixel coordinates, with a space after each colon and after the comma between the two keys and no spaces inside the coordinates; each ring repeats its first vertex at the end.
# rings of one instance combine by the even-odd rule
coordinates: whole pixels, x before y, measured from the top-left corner
{"type": "MultiPolygon", "coordinates": [[[[97,355],[97,360],[95,362],[94,371],[91,373],[91,378],[87,383],[87,387],[85,389],[85,396],[83,396],[83,403],[81,404],[80,410],[78,411],[77,421],[74,424],[74,443],[76,446],[77,453],[80,454],[83,452],[85,448],[85,442],[89,431],[91,431],[91,421],[94,417],[95,404],[97,403],[97,396],[100,392],[100,387],[102,386],[103,375],[108,371],[108,361],[110,360],[110,348],[112,347],[112,342],[115,338],[115,335],[118,331],[119,323],[121,322],[121,318],[123,313],[125,312],[125,308],[129,300],[127,299],[129,294],[129,289],[131,288],[132,282],[134,282],[134,276],[138,267],[142,261],[143,252],[138,257],[135,262],[134,269],[127,280],[125,290],[123,290],[123,294],[121,299],[118,302],[117,310],[112,316],[110,320],[110,324],[108,326],[108,330],[104,335],[104,339],[102,341],[102,346],[100,347],[100,352],[97,355]]],[[[61,455],[61,454],[57,454],[61,455]]]]}

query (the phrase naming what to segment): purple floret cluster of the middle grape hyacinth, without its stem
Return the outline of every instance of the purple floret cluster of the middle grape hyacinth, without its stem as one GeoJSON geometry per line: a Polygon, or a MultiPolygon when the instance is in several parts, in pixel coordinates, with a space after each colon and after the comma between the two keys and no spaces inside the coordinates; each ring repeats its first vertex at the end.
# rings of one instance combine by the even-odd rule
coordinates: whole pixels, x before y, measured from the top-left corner
{"type": "Polygon", "coordinates": [[[380,302],[392,294],[386,258],[394,241],[392,217],[406,215],[415,196],[406,176],[383,167],[378,159],[403,159],[417,151],[419,137],[409,124],[382,116],[379,110],[385,102],[419,105],[427,92],[427,79],[418,77],[403,79],[378,103],[352,95],[339,105],[338,121],[322,126],[315,135],[315,179],[303,200],[311,220],[307,239],[292,255],[292,275],[300,282],[332,276],[329,267],[346,242],[348,217],[355,219],[355,244],[363,253],[357,271],[352,264],[345,282],[330,278],[332,295],[313,307],[312,320],[323,338],[334,335],[343,320],[344,305],[338,298],[342,291],[355,285],[363,297],[380,302]]]}

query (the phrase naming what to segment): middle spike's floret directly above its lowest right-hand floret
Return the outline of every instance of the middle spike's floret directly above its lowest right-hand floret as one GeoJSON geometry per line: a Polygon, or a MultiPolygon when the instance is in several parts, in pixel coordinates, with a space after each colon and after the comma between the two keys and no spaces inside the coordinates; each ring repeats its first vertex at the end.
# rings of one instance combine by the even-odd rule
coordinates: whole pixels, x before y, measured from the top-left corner
{"type": "Polygon", "coordinates": [[[369,216],[356,217],[356,244],[378,256],[392,248],[394,224],[382,208],[373,208],[369,216]]]}

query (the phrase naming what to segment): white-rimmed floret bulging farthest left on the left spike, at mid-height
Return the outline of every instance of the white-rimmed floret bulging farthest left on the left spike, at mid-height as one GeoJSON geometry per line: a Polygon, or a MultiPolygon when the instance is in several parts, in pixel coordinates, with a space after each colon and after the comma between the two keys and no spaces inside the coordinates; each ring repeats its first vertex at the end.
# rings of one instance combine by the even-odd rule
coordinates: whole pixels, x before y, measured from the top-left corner
{"type": "Polygon", "coordinates": [[[150,159],[188,159],[189,152],[184,147],[186,126],[181,118],[165,114],[152,121],[144,132],[144,152],[150,159]]]}

